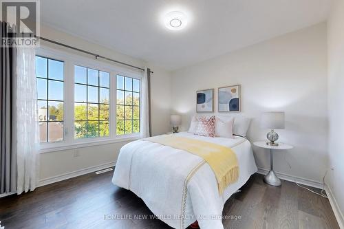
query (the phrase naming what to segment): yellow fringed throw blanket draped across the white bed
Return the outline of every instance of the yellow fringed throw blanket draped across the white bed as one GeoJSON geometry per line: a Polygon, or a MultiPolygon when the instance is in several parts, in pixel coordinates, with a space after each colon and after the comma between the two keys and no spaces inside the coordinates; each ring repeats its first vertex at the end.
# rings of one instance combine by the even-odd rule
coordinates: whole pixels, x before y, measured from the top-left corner
{"type": "Polygon", "coordinates": [[[202,157],[215,174],[220,195],[229,184],[236,182],[239,177],[237,155],[226,146],[175,135],[159,135],[142,140],[171,146],[202,157]]]}

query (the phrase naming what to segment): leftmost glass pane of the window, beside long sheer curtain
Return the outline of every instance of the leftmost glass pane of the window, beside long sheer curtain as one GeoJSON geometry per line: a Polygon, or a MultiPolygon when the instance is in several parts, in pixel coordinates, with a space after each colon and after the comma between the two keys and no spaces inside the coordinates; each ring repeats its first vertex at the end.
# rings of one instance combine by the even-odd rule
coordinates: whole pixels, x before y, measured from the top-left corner
{"type": "Polygon", "coordinates": [[[63,140],[63,61],[36,56],[41,142],[63,140]]]}

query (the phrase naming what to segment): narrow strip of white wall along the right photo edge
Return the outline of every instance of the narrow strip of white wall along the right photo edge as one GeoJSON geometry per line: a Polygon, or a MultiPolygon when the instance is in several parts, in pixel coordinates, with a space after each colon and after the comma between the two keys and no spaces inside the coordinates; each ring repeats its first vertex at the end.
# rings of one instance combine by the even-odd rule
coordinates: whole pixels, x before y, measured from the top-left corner
{"type": "MultiPolygon", "coordinates": [[[[327,180],[336,202],[344,212],[344,1],[334,1],[327,22],[329,166],[334,170],[327,180]]],[[[343,216],[342,216],[343,217],[343,216]]],[[[344,219],[342,219],[344,220],[344,219]]]]}

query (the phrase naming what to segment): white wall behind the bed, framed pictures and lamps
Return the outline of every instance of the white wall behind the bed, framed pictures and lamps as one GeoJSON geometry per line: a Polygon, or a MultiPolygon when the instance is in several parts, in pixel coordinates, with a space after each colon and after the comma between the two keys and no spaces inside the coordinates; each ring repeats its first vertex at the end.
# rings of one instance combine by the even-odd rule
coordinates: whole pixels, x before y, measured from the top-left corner
{"type": "MultiPolygon", "coordinates": [[[[294,149],[276,153],[275,170],[321,182],[327,168],[326,24],[292,32],[173,72],[171,107],[187,129],[195,113],[196,91],[241,85],[242,114],[252,118],[250,140],[264,140],[262,111],[286,111],[281,142],[294,149]],[[288,163],[292,168],[289,168],[288,163]]],[[[270,167],[267,151],[255,149],[259,168],[270,167]]]]}

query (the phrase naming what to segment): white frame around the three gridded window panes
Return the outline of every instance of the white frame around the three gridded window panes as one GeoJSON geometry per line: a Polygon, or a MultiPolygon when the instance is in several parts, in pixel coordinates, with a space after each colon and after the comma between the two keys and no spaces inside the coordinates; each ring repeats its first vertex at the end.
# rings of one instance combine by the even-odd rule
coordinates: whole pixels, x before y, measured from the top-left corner
{"type": "MultiPolygon", "coordinates": [[[[116,76],[121,75],[141,80],[142,72],[111,65],[105,61],[96,60],[82,54],[65,52],[43,45],[36,49],[36,55],[58,59],[64,62],[63,141],[41,143],[40,153],[77,149],[100,144],[111,144],[114,142],[127,142],[140,138],[140,133],[116,135],[116,76]],[[98,138],[74,138],[74,65],[109,72],[109,136],[98,138]]],[[[142,84],[140,83],[140,85],[142,84]]]]}

